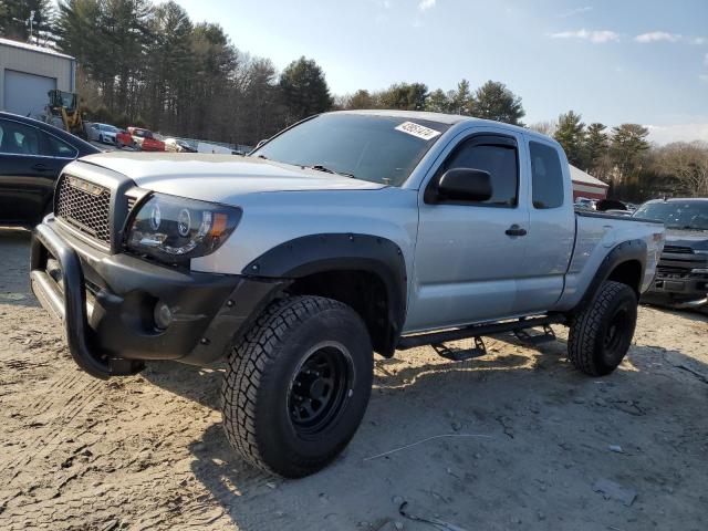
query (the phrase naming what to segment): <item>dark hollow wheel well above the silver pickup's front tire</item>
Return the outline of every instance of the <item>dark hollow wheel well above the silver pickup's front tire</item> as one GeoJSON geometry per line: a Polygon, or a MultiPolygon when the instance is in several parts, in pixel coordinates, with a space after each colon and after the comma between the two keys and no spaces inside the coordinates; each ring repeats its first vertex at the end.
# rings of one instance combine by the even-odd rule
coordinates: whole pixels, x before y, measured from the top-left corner
{"type": "Polygon", "coordinates": [[[319,295],[347,304],[360,314],[372,339],[374,351],[392,356],[395,327],[389,320],[391,301],[381,277],[368,271],[324,271],[295,280],[288,291],[319,295]]]}

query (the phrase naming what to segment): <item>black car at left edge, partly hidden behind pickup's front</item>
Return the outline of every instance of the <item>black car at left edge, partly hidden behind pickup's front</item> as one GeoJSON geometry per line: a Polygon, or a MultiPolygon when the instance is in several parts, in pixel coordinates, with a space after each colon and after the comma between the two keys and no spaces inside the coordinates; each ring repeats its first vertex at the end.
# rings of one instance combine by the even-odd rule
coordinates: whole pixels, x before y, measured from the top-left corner
{"type": "Polygon", "coordinates": [[[52,125],[0,112],[0,223],[40,222],[64,166],[94,153],[100,149],[52,125]]]}

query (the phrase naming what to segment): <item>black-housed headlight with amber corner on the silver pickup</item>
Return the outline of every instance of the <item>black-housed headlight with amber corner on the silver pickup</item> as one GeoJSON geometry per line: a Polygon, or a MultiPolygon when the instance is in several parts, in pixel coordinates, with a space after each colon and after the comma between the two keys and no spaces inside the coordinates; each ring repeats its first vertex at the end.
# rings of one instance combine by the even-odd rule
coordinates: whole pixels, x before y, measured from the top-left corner
{"type": "Polygon", "coordinates": [[[240,219],[240,208],[154,194],[133,218],[126,244],[163,262],[185,262],[216,251],[240,219]]]}

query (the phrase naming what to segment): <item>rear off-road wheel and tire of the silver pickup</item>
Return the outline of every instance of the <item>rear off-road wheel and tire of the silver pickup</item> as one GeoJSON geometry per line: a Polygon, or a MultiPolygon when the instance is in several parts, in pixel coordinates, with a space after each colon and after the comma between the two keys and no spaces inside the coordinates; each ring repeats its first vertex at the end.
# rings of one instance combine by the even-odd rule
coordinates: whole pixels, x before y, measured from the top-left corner
{"type": "Polygon", "coordinates": [[[570,361],[591,376],[612,373],[629,350],[636,322],[634,290],[621,282],[603,282],[591,303],[571,320],[570,361]]]}

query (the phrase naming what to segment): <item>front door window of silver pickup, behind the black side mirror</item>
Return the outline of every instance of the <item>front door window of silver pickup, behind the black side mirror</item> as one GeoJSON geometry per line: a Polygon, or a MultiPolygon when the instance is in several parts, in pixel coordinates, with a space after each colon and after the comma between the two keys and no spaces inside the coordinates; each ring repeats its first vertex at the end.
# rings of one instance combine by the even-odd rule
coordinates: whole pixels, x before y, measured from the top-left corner
{"type": "MultiPolygon", "coordinates": [[[[516,207],[519,190],[519,158],[517,147],[507,138],[471,138],[459,146],[446,160],[442,173],[452,168],[481,169],[491,177],[492,196],[480,206],[516,207]]],[[[440,173],[440,176],[442,175],[440,173]]]]}

